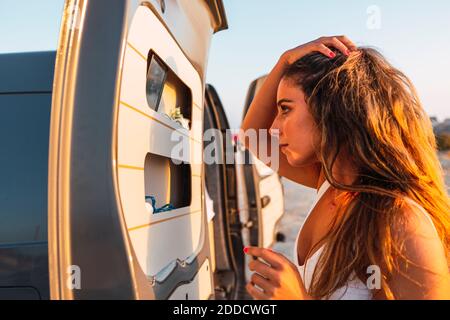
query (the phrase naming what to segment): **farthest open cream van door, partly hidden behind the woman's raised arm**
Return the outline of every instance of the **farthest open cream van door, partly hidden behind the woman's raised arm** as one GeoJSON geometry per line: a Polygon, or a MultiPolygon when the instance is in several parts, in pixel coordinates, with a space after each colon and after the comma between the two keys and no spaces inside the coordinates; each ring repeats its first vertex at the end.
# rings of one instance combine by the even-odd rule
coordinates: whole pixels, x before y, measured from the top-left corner
{"type": "MultiPolygon", "coordinates": [[[[261,77],[250,84],[243,117],[264,80],[265,77],[261,77]]],[[[283,185],[278,174],[251,152],[246,149],[239,152],[243,152],[242,158],[247,159],[244,175],[248,197],[248,220],[245,223],[249,229],[248,244],[269,248],[275,241],[284,238],[282,234],[276,233],[277,223],[284,214],[283,185]]]]}

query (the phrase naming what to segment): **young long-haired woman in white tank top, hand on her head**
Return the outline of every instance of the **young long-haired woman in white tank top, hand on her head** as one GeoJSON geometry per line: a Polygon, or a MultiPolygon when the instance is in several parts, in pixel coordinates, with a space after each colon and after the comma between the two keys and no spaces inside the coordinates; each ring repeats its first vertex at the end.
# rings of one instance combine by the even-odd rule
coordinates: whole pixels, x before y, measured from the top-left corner
{"type": "MultiPolygon", "coordinates": [[[[285,52],[241,129],[270,129],[278,173],[318,190],[294,263],[244,249],[259,258],[252,297],[450,299],[450,201],[432,126],[376,50],[336,36],[285,52]]],[[[268,140],[244,143],[257,155],[268,140]]]]}

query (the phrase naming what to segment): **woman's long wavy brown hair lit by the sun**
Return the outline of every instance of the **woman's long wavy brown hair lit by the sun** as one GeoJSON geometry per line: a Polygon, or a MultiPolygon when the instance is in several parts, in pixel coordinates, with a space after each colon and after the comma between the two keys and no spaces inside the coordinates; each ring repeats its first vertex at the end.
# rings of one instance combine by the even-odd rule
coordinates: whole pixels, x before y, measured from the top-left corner
{"type": "Polygon", "coordinates": [[[334,59],[311,53],[284,73],[305,93],[321,133],[317,157],[326,179],[343,190],[309,288],[318,298],[330,297],[353,272],[367,279],[369,265],[383,266],[383,293],[395,298],[387,280],[399,257],[407,259],[394,230],[407,219],[404,197],[429,213],[449,261],[450,201],[431,121],[405,74],[377,50],[358,49],[348,57],[333,50],[334,59]],[[343,150],[358,168],[351,185],[332,175],[343,150]]]}

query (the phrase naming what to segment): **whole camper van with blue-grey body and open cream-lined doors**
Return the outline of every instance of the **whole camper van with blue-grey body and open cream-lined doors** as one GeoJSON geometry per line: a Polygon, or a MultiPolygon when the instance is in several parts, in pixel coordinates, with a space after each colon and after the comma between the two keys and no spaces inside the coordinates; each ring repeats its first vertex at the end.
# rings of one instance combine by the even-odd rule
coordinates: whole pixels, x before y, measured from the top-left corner
{"type": "Polygon", "coordinates": [[[205,83],[222,0],[61,2],[56,50],[0,54],[0,299],[250,299],[283,190],[205,83]]]}

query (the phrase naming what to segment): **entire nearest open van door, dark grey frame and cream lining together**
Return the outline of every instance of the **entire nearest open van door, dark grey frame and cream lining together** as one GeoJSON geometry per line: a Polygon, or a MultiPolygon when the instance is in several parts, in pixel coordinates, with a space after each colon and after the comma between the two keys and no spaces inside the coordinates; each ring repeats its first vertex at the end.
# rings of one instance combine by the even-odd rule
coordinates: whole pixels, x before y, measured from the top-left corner
{"type": "Polygon", "coordinates": [[[51,298],[213,297],[203,79],[226,20],[208,12],[221,1],[208,3],[66,2],[50,129],[51,298]]]}

